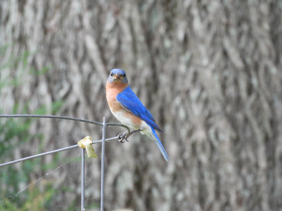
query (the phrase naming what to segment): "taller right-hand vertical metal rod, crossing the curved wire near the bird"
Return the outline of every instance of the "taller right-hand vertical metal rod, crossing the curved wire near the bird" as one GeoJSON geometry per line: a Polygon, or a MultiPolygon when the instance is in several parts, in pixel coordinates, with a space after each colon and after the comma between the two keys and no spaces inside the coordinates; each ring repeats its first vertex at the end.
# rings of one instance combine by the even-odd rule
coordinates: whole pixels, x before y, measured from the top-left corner
{"type": "Polygon", "coordinates": [[[103,118],[103,136],[102,136],[102,161],[101,161],[101,211],[104,211],[104,180],[105,180],[105,134],[106,117],[103,118]]]}

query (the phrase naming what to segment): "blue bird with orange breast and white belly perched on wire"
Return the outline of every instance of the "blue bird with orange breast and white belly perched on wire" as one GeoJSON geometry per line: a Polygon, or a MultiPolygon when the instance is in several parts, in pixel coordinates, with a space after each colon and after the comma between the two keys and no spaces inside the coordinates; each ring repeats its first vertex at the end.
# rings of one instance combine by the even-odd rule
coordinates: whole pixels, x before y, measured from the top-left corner
{"type": "Polygon", "coordinates": [[[128,85],[128,79],[123,69],[112,69],[107,80],[106,98],[113,115],[124,125],[140,130],[141,134],[149,136],[155,141],[164,159],[169,160],[164,146],[160,142],[156,131],[164,134],[156,124],[150,111],[128,85]]]}

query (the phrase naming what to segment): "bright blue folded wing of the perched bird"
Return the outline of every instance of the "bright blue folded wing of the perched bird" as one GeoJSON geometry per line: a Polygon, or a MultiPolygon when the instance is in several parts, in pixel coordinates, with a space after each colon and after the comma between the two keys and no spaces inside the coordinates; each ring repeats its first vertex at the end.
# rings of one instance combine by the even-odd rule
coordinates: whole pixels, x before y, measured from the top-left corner
{"type": "Polygon", "coordinates": [[[156,124],[156,121],[150,111],[146,109],[129,86],[116,95],[116,99],[127,111],[133,113],[135,116],[138,116],[158,132],[164,134],[156,124]]]}

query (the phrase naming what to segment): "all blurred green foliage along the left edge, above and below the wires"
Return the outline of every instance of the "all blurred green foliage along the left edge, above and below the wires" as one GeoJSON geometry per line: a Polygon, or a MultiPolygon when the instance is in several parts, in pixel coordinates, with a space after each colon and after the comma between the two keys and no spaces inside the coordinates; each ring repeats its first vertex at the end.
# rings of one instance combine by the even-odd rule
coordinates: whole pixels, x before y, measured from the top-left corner
{"type": "MultiPolygon", "coordinates": [[[[28,57],[30,52],[26,51],[19,56],[11,55],[6,62],[1,61],[5,56],[9,45],[0,47],[0,71],[7,69],[16,69],[17,72],[13,77],[2,77],[0,79],[0,93],[3,88],[20,88],[23,83],[23,74],[38,76],[46,73],[50,67],[44,67],[41,70],[33,68],[27,69],[28,57]]],[[[29,104],[27,101],[24,105],[15,103],[12,108],[12,114],[29,114],[29,104]]],[[[62,101],[53,102],[51,105],[52,114],[60,111],[62,101]]],[[[50,112],[50,110],[48,110],[50,112]]],[[[0,113],[3,113],[0,108],[0,113]]],[[[32,112],[32,114],[45,115],[47,107],[42,105],[32,112]]],[[[15,160],[15,154],[27,142],[43,143],[43,134],[31,134],[29,129],[31,124],[38,121],[37,118],[1,118],[0,119],[0,163],[15,160]]],[[[29,143],[30,144],[30,143],[29,143]]],[[[43,144],[41,144],[42,148],[43,144]]],[[[38,149],[39,151],[41,149],[38,149]]],[[[27,155],[28,156],[28,155],[27,155]]],[[[56,154],[54,160],[49,164],[43,164],[42,158],[26,160],[18,164],[12,164],[0,169],[0,210],[50,210],[52,201],[59,190],[52,186],[52,181],[41,178],[39,182],[33,181],[30,177],[32,174],[38,174],[39,178],[42,172],[50,172],[58,167],[60,155],[56,154]],[[40,185],[38,185],[40,183],[40,185]],[[40,187],[38,187],[40,186],[40,187]],[[25,188],[21,190],[21,188],[25,188]]],[[[61,190],[60,190],[61,191],[61,190]]]]}

